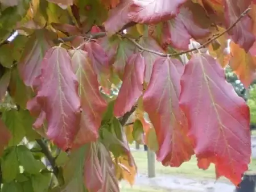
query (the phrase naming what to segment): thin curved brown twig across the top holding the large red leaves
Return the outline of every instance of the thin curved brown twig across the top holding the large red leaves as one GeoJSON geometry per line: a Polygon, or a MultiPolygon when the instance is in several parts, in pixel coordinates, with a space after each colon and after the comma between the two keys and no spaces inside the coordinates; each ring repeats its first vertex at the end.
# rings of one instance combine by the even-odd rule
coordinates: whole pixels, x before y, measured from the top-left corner
{"type": "MultiPolygon", "coordinates": [[[[220,36],[224,35],[226,32],[230,31],[234,26],[236,26],[236,24],[243,18],[243,16],[245,16],[251,9],[248,8],[246,9],[245,11],[243,11],[243,13],[239,16],[239,18],[237,18],[236,22],[234,22],[229,28],[227,28],[225,31],[223,31],[221,34],[218,34],[214,37],[212,37],[211,39],[209,39],[207,42],[205,42],[203,45],[201,45],[200,47],[198,48],[193,48],[193,49],[188,49],[186,51],[181,51],[181,52],[178,52],[178,53],[172,53],[172,54],[167,54],[167,53],[161,53],[161,52],[157,52],[157,51],[154,51],[154,50],[151,50],[151,49],[147,49],[147,48],[144,48],[142,47],[139,43],[137,43],[137,41],[135,41],[134,39],[131,39],[130,37],[127,37],[125,36],[124,34],[120,34],[122,37],[130,40],[132,43],[134,43],[139,49],[141,49],[142,51],[147,51],[147,52],[150,52],[150,53],[154,53],[155,55],[159,55],[161,57],[173,57],[173,56],[179,56],[179,55],[183,55],[185,53],[189,53],[189,52],[192,52],[192,51],[197,51],[201,48],[205,48],[207,45],[209,45],[210,43],[212,43],[212,41],[218,39],[220,36]]],[[[67,41],[72,41],[73,39],[75,39],[77,35],[75,36],[69,36],[69,37],[63,37],[63,38],[59,38],[59,39],[56,39],[54,40],[53,42],[54,43],[63,43],[63,42],[67,42],[67,41]]],[[[98,38],[101,38],[101,37],[104,37],[106,36],[106,32],[98,32],[97,34],[86,34],[84,35],[85,38],[88,38],[88,39],[98,39],[98,38]]]]}

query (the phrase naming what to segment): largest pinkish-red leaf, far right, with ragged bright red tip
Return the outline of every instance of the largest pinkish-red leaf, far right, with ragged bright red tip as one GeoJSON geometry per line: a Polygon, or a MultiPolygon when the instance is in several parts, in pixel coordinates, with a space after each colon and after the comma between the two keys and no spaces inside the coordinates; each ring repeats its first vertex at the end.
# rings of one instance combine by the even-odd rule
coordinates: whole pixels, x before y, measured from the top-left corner
{"type": "Polygon", "coordinates": [[[217,177],[238,185],[251,156],[249,107],[211,56],[192,55],[185,65],[180,106],[188,118],[188,136],[195,143],[199,167],[213,162],[217,177]]]}

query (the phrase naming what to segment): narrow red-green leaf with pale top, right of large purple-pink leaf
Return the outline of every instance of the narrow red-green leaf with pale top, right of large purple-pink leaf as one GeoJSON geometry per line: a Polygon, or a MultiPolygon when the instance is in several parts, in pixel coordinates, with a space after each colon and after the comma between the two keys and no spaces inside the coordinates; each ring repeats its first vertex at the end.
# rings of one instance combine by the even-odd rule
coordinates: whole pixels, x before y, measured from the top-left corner
{"type": "Polygon", "coordinates": [[[88,53],[80,50],[69,51],[73,71],[79,81],[79,95],[81,98],[81,122],[73,147],[80,147],[98,138],[98,129],[102,115],[106,110],[106,101],[101,97],[98,89],[97,74],[93,70],[88,53]]]}

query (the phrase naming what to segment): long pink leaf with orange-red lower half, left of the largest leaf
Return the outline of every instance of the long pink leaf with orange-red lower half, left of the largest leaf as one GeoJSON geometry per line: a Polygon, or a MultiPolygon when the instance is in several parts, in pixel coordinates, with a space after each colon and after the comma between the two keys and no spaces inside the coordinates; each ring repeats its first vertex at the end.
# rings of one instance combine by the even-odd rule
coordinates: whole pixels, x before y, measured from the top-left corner
{"type": "Polygon", "coordinates": [[[184,66],[179,60],[159,58],[143,95],[144,110],[155,127],[159,151],[157,158],[163,165],[180,166],[193,155],[188,127],[179,107],[180,78],[184,66]]]}

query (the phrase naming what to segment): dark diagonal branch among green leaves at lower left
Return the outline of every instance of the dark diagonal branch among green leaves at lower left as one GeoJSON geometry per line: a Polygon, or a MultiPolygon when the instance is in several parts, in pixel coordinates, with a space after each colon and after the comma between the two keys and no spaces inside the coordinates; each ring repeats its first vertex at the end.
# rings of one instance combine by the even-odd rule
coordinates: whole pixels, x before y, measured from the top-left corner
{"type": "Polygon", "coordinates": [[[46,143],[44,143],[44,141],[42,139],[36,139],[36,142],[40,145],[40,147],[42,148],[42,153],[44,153],[44,155],[46,156],[46,158],[48,159],[49,163],[51,164],[52,167],[52,171],[53,174],[55,175],[55,177],[58,179],[59,178],[59,168],[56,166],[55,164],[55,160],[52,157],[51,152],[49,151],[48,147],[46,146],[46,143]]]}

